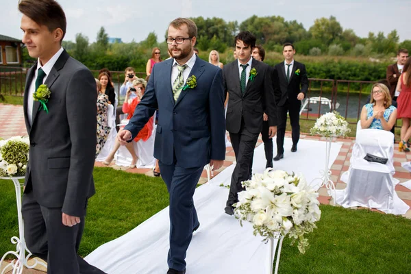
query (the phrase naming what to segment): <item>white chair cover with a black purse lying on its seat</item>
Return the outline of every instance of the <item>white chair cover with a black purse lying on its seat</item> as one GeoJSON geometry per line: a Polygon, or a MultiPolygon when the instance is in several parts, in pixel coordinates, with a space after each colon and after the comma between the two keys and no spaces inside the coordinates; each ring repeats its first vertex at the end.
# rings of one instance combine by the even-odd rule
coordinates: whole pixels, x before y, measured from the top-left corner
{"type": "Polygon", "coordinates": [[[358,123],[356,143],[349,170],[341,176],[345,190],[336,190],[335,201],[344,208],[362,206],[391,214],[405,214],[410,208],[399,199],[393,177],[394,135],[381,129],[361,129],[358,123]],[[386,164],[364,160],[366,153],[388,158],[386,164]]]}

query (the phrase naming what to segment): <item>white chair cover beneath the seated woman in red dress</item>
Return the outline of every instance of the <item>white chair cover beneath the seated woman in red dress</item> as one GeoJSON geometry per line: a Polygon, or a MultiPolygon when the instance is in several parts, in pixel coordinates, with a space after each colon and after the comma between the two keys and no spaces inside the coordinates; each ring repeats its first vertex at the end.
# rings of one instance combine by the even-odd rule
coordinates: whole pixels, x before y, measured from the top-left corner
{"type": "MultiPolygon", "coordinates": [[[[154,123],[154,121],[153,121],[154,123]]],[[[132,142],[134,152],[138,157],[137,168],[138,169],[153,169],[155,166],[154,158],[154,140],[155,140],[155,125],[153,126],[153,133],[147,141],[139,140],[138,142],[132,142]]],[[[121,146],[114,155],[116,165],[129,166],[132,164],[132,155],[129,153],[125,146],[121,146]]]]}

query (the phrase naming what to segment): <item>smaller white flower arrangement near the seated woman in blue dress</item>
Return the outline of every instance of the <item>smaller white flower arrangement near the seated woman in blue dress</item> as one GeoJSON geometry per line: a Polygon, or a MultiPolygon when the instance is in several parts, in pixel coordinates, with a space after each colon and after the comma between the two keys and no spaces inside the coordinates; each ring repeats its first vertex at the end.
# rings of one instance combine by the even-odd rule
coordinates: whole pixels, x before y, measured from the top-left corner
{"type": "Polygon", "coordinates": [[[319,134],[324,137],[345,137],[351,129],[347,121],[338,112],[327,112],[316,120],[311,134],[319,134]]]}

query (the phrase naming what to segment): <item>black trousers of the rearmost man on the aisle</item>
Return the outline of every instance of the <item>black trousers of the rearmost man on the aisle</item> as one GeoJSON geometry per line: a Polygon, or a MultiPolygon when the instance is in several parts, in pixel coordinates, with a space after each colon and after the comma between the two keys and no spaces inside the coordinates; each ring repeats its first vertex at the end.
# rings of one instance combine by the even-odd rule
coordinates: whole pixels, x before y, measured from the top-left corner
{"type": "Polygon", "coordinates": [[[286,101],[284,105],[277,106],[277,154],[284,153],[284,136],[286,135],[287,112],[290,115],[291,137],[292,144],[297,145],[299,141],[299,111],[301,108],[301,101],[290,102],[286,101]]]}

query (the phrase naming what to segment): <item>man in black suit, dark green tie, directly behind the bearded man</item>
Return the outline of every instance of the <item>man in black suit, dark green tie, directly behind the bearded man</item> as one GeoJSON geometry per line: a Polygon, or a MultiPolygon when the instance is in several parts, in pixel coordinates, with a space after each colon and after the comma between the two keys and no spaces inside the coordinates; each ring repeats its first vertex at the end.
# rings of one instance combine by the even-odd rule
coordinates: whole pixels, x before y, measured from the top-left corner
{"type": "Polygon", "coordinates": [[[236,154],[236,167],[225,207],[225,213],[229,215],[234,214],[233,204],[238,201],[238,192],[244,190],[241,182],[250,179],[253,151],[262,131],[264,105],[268,115],[269,138],[273,138],[277,131],[272,70],[267,64],[251,57],[256,46],[253,34],[240,32],[235,42],[238,59],[223,68],[224,89],[229,95],[227,131],[236,154]]]}

